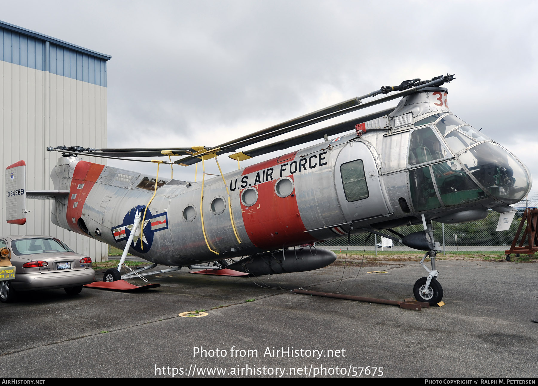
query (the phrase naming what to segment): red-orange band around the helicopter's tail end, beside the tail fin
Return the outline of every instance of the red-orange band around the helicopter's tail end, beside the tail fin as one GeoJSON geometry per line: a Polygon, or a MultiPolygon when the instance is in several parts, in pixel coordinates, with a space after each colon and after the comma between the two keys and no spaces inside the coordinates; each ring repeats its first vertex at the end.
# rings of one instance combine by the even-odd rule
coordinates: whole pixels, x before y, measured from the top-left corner
{"type": "Polygon", "coordinates": [[[77,221],[82,217],[82,208],[88,198],[91,188],[94,187],[97,178],[101,175],[104,165],[79,161],[75,166],[71,186],[69,188],[69,200],[67,202],[67,223],[77,233],[84,234],[79,230],[77,221]],[[75,196],[73,196],[75,195],[75,196]]]}

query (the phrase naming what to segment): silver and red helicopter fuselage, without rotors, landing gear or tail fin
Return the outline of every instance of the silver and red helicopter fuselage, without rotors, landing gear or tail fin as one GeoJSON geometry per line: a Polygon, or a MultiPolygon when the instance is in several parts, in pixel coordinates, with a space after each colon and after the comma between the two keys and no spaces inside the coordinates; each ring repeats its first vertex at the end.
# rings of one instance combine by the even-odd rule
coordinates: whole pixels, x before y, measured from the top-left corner
{"type": "MultiPolygon", "coordinates": [[[[439,88],[417,92],[366,123],[362,136],[224,174],[228,190],[220,176],[160,179],[130,253],[188,266],[416,224],[422,214],[474,220],[519,201],[530,190],[528,169],[453,115],[446,96],[439,88]]],[[[122,249],[155,184],[152,176],[73,156],[60,158],[51,178],[55,189],[69,190],[55,201],[53,223],[122,249]]]]}

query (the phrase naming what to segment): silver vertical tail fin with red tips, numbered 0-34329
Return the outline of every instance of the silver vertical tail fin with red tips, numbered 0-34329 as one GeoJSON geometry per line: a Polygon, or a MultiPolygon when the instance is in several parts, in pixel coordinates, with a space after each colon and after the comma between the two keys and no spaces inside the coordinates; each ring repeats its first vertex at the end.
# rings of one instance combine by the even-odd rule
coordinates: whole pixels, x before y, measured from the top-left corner
{"type": "Polygon", "coordinates": [[[5,209],[9,224],[26,223],[26,162],[13,163],[5,169],[5,209]]]}

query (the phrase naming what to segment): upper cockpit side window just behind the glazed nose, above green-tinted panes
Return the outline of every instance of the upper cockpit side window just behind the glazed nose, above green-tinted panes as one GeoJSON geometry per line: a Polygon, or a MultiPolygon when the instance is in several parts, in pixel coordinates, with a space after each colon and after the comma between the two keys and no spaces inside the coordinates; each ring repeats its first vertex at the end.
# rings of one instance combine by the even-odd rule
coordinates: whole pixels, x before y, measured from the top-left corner
{"type": "Polygon", "coordinates": [[[420,165],[421,163],[442,159],[446,155],[445,152],[433,128],[418,128],[411,133],[409,165],[420,165]]]}

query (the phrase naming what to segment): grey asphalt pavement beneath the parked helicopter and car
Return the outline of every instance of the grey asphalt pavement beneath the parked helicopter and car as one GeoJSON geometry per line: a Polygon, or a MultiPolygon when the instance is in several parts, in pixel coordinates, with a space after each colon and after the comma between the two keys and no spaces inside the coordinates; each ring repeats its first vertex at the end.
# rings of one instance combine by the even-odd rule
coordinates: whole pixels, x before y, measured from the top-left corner
{"type": "Polygon", "coordinates": [[[289,292],[403,300],[425,274],[417,262],[259,278],[183,268],[138,293],[26,292],[0,304],[0,369],[38,378],[535,377],[538,263],[440,260],[437,269],[445,305],[422,311],[289,292]],[[178,316],[196,310],[208,315],[178,316]]]}

